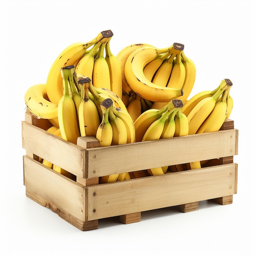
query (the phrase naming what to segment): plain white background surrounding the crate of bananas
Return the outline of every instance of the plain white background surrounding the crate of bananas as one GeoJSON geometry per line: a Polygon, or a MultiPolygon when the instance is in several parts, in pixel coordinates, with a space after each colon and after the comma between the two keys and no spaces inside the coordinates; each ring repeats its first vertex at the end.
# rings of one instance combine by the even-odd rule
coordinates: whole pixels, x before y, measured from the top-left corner
{"type": "MultiPolygon", "coordinates": [[[[6,1],[7,2],[7,1],[6,1]]],[[[255,4],[254,0],[9,0],[1,16],[0,254],[253,255],[255,253],[255,4]],[[44,83],[68,45],[111,29],[112,52],[131,43],[183,43],[197,67],[191,95],[233,82],[230,116],[239,130],[238,193],[233,204],[200,202],[141,213],[141,222],[99,220],[82,232],[25,196],[21,121],[24,94],[44,83]]]]}

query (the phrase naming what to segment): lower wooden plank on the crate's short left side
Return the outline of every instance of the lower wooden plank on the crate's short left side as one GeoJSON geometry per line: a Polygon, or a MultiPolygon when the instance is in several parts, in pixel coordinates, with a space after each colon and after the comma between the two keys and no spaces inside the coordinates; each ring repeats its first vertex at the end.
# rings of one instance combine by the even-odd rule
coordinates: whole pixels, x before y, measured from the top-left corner
{"type": "Polygon", "coordinates": [[[52,171],[30,157],[24,156],[25,186],[47,200],[84,220],[84,188],[63,175],[52,171]]]}

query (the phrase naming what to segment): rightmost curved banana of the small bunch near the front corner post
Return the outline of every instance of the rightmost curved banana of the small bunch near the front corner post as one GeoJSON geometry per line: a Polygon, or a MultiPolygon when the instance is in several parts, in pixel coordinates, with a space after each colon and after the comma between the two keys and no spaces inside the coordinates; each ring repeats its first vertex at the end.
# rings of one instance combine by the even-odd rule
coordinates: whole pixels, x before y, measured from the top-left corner
{"type": "Polygon", "coordinates": [[[112,108],[113,113],[116,117],[119,117],[126,126],[126,132],[127,132],[127,143],[134,143],[135,142],[135,127],[134,123],[132,121],[132,117],[130,114],[121,108],[112,108]]]}

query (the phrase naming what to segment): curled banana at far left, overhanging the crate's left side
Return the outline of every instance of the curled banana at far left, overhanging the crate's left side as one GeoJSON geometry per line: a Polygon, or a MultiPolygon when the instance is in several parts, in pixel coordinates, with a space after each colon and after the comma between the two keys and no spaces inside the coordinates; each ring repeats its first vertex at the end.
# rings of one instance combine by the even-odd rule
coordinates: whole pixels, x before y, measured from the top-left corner
{"type": "Polygon", "coordinates": [[[58,117],[58,104],[48,100],[46,84],[44,83],[32,85],[28,88],[25,92],[25,104],[36,117],[43,119],[58,117]]]}

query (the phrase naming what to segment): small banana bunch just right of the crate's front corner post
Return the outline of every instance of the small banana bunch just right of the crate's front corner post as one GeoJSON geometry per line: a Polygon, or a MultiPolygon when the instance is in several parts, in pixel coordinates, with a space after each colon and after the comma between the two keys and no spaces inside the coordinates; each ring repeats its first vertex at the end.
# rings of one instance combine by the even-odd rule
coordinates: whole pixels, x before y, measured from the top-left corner
{"type": "MultiPolygon", "coordinates": [[[[112,99],[100,103],[102,111],[101,124],[96,133],[100,146],[121,145],[135,142],[135,128],[126,110],[116,108],[112,99]]],[[[100,183],[109,183],[130,179],[129,173],[103,176],[100,183]]]]}

